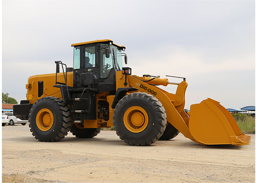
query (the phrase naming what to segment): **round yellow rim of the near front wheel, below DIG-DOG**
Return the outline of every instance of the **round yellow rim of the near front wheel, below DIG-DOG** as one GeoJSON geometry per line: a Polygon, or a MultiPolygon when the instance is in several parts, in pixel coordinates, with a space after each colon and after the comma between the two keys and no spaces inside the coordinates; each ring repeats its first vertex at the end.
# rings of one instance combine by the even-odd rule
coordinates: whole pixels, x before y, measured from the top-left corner
{"type": "Polygon", "coordinates": [[[124,126],[133,133],[140,133],[148,126],[148,114],[140,106],[129,107],[124,113],[124,126]]]}

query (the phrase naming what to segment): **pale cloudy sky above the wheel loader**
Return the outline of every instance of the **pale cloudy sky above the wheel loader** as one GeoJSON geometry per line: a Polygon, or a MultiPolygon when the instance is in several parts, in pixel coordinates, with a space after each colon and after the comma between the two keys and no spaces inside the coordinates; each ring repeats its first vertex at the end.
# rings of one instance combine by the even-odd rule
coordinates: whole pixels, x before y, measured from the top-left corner
{"type": "Polygon", "coordinates": [[[185,77],[187,109],[255,105],[254,0],[2,0],[2,92],[26,100],[29,76],[72,67],[71,44],[96,39],[126,46],[132,74],[185,77]]]}

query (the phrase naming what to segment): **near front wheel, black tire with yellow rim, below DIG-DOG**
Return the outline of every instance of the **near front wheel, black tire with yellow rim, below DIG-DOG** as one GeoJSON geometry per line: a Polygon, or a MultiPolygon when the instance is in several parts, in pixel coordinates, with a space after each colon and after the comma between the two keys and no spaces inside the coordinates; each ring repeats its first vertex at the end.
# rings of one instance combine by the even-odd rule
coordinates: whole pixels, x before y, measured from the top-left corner
{"type": "Polygon", "coordinates": [[[157,141],[165,131],[166,122],[161,102],[142,92],[123,97],[113,114],[116,134],[131,146],[146,146],[157,141]]]}

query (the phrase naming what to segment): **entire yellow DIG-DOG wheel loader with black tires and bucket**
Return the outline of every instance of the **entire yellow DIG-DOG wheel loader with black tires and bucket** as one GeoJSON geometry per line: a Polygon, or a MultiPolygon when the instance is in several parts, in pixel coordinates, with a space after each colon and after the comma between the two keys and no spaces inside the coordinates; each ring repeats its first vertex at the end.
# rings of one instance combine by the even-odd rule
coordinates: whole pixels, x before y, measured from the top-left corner
{"type": "MultiPolygon", "coordinates": [[[[232,115],[219,102],[203,100],[184,111],[185,78],[180,83],[160,76],[132,75],[126,47],[110,39],[72,44],[73,67],[55,61],[56,73],[31,76],[26,100],[13,106],[15,116],[29,121],[39,141],[59,141],[70,131],[93,138],[114,126],[125,143],[146,146],[182,133],[201,145],[250,143],[232,115]],[[61,72],[60,72],[61,69],[61,72]],[[160,85],[177,85],[175,94],[160,85]]],[[[175,77],[175,76],[167,76],[175,77]]],[[[179,78],[179,77],[178,77],[179,78]]]]}

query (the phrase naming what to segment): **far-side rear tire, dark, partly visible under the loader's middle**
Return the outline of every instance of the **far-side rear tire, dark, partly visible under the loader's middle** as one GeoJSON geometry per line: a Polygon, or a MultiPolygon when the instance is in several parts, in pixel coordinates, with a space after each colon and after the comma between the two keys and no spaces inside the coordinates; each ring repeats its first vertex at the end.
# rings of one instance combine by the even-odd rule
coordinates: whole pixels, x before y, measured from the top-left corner
{"type": "Polygon", "coordinates": [[[83,128],[83,123],[74,124],[70,128],[70,132],[77,138],[93,138],[100,130],[101,128],[83,128]]]}

